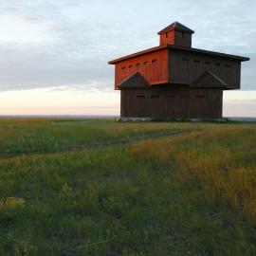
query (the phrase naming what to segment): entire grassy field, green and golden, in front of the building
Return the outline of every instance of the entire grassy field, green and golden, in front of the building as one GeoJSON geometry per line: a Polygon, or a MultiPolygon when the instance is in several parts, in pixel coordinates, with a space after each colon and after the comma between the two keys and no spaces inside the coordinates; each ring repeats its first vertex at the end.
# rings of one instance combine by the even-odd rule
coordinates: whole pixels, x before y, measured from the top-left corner
{"type": "Polygon", "coordinates": [[[0,255],[256,255],[256,125],[0,120],[0,255]]]}

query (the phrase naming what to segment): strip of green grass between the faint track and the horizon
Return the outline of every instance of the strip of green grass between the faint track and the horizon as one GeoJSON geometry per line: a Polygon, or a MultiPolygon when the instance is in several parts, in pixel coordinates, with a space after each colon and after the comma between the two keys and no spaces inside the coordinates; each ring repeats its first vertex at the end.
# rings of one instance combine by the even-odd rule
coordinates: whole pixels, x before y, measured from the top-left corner
{"type": "Polygon", "coordinates": [[[0,119],[0,155],[69,152],[86,146],[205,126],[177,122],[124,125],[110,119],[0,119]]]}

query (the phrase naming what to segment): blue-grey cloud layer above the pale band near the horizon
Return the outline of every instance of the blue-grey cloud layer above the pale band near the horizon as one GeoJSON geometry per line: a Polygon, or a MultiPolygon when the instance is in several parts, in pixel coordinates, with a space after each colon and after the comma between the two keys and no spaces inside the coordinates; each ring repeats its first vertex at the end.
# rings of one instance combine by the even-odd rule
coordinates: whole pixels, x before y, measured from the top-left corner
{"type": "Polygon", "coordinates": [[[0,91],[112,88],[107,61],[156,46],[156,32],[174,20],[196,31],[193,46],[252,56],[242,78],[243,88],[253,89],[255,8],[252,0],[2,1],[0,91]]]}

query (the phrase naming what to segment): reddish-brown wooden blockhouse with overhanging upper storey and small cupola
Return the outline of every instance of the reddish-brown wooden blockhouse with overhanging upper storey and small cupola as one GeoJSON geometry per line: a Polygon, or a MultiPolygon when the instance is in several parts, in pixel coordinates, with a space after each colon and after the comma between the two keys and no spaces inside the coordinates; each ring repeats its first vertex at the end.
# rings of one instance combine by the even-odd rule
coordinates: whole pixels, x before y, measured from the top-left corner
{"type": "Polygon", "coordinates": [[[109,62],[121,91],[121,118],[222,118],[223,90],[239,89],[249,58],[192,48],[178,22],[158,32],[160,46],[109,62]]]}

